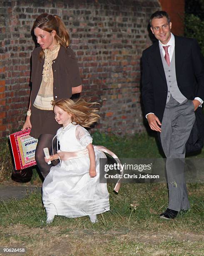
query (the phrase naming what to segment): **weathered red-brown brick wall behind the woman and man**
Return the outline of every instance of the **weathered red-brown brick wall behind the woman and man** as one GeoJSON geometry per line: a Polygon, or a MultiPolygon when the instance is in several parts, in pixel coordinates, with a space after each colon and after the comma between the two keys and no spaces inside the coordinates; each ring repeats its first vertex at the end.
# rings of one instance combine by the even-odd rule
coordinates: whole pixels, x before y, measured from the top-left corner
{"type": "Polygon", "coordinates": [[[30,94],[30,34],[40,13],[62,17],[83,79],[82,96],[100,102],[96,128],[118,134],[144,130],[140,58],[151,44],[147,32],[157,0],[1,0],[0,136],[19,128],[30,94]]]}

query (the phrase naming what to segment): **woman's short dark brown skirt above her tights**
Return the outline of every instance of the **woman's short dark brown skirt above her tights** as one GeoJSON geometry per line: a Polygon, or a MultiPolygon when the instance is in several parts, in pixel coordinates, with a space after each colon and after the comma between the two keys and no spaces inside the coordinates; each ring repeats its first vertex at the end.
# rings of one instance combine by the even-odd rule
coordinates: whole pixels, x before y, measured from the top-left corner
{"type": "Polygon", "coordinates": [[[52,110],[31,109],[30,122],[32,125],[30,136],[39,138],[40,134],[56,135],[57,130],[62,126],[55,121],[55,115],[52,110]]]}

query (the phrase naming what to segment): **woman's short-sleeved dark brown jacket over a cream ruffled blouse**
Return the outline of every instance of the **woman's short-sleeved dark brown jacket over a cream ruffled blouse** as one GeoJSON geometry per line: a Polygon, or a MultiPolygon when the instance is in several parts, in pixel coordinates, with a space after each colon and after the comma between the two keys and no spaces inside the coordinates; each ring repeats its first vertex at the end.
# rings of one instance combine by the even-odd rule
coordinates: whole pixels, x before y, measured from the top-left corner
{"type": "MultiPolygon", "coordinates": [[[[35,48],[32,52],[31,110],[42,81],[44,59],[39,60],[39,52],[40,47],[35,48]]],[[[82,84],[75,54],[70,48],[60,46],[57,59],[52,62],[54,100],[70,98],[72,96],[72,87],[82,84]]]]}

